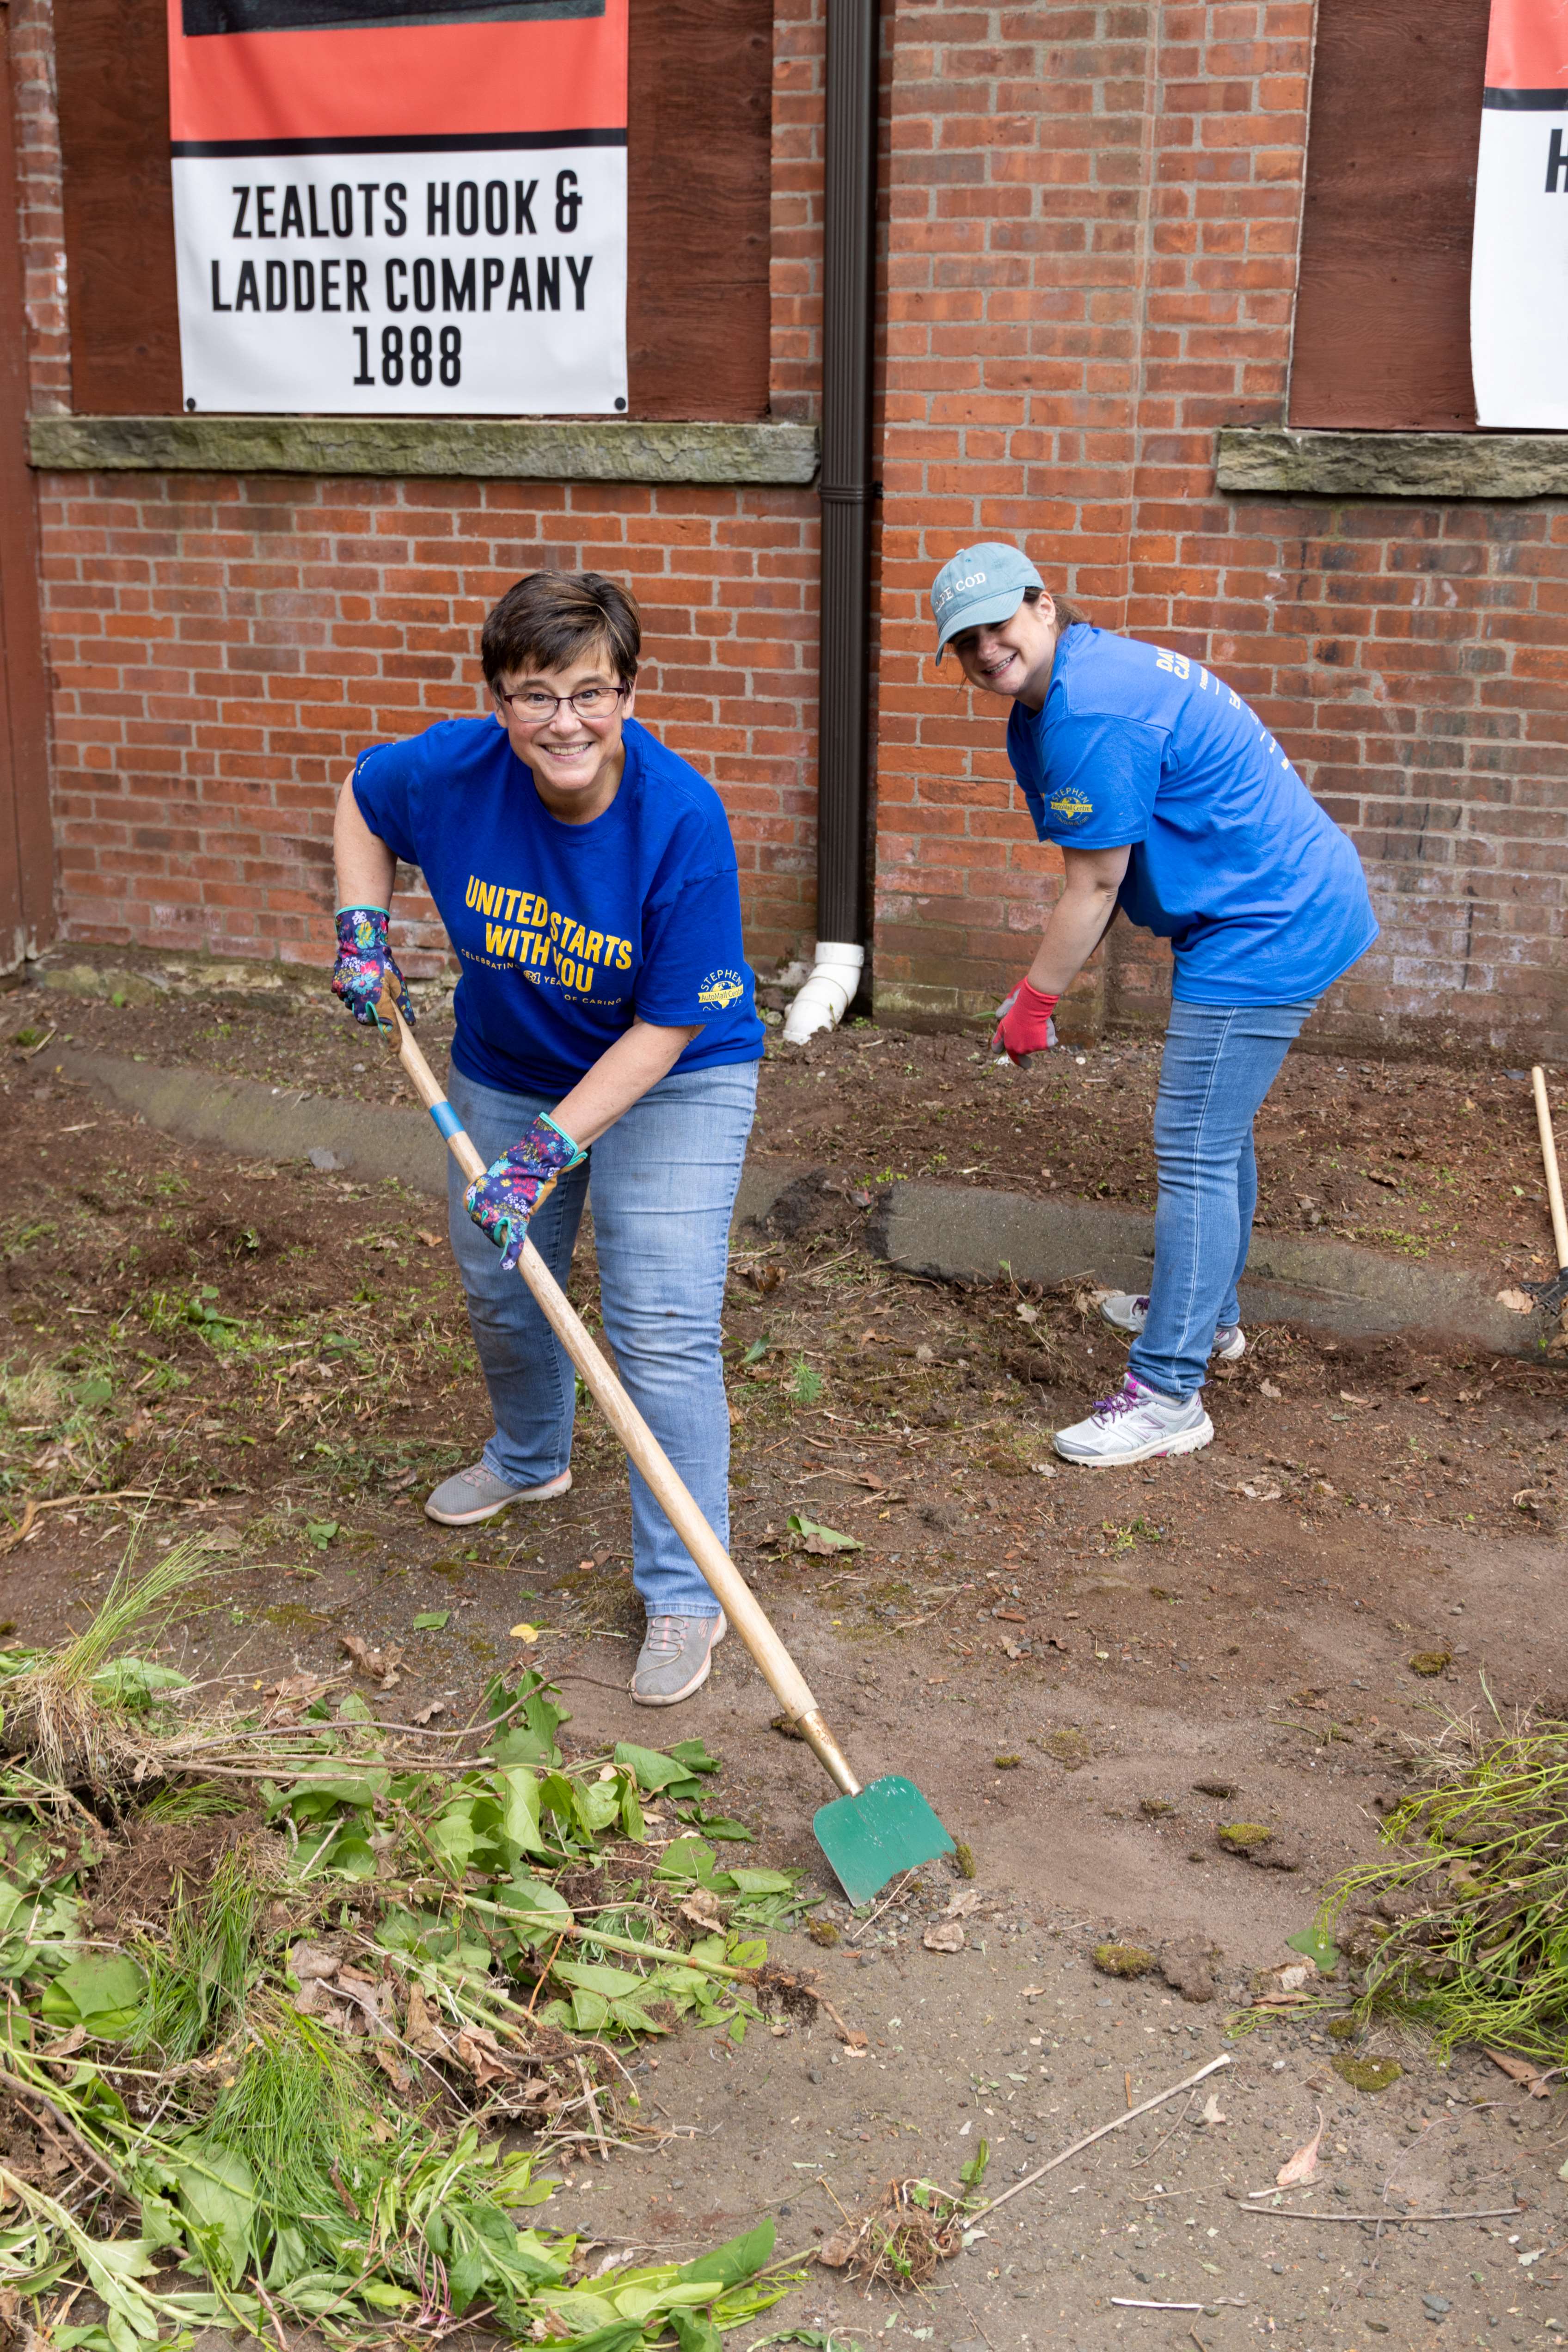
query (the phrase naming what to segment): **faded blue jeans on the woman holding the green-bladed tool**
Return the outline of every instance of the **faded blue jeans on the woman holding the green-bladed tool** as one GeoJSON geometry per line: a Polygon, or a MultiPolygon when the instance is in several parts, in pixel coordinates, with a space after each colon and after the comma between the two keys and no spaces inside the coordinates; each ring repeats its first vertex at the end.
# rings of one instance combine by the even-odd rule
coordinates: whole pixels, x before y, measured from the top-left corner
{"type": "MultiPolygon", "coordinates": [[[[451,1108],[487,1162],[527,1134],[552,1094],[498,1094],[451,1073],[451,1108]]],[[[529,1223],[557,1282],[567,1279],[583,1204],[592,1200],[599,1310],[621,1381],[729,1545],[729,1404],[719,1355],[729,1218],[757,1108],[757,1063],[672,1070],[562,1176],[529,1223]]],[[[571,1461],[576,1376],[522,1275],[463,1207],[447,1164],[447,1230],[468,1291],[468,1327],[496,1435],[484,1463],[508,1486],[541,1486],[571,1461]]],[[[632,1581],[649,1616],[717,1616],[644,1479],[632,1470],[632,1581]]]]}

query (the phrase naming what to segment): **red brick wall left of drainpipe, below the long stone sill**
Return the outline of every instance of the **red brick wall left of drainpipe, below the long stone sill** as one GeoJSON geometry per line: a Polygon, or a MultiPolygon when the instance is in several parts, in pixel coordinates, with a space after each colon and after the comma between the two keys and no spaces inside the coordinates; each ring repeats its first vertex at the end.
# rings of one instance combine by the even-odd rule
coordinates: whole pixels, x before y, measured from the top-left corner
{"type": "Polygon", "coordinates": [[[42,524],[66,938],[329,955],[355,750],[482,706],[480,621],[538,564],[632,586],[637,715],[724,793],[752,953],[809,936],[806,492],[49,475],[42,524]]]}

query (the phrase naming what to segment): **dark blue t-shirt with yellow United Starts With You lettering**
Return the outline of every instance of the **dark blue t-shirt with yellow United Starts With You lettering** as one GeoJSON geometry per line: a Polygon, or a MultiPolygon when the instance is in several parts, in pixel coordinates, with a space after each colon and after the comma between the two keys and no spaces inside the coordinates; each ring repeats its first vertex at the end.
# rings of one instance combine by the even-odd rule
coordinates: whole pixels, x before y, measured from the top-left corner
{"type": "Polygon", "coordinates": [[[602,816],[550,816],[494,720],[442,720],[355,762],[371,833],[418,866],[463,974],[451,1058],[503,1094],[567,1094],[632,1025],[701,1021],[677,1070],[757,1061],[724,802],[625,722],[602,816]]]}

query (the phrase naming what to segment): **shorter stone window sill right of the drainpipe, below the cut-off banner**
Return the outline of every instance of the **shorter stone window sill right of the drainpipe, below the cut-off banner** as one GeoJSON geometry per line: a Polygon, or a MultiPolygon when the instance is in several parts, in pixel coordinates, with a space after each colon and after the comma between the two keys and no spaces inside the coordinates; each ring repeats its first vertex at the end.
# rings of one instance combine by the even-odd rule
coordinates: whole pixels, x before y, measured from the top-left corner
{"type": "Polygon", "coordinates": [[[1220,426],[1215,487],[1291,499],[1561,499],[1568,496],[1568,433],[1220,426]]]}

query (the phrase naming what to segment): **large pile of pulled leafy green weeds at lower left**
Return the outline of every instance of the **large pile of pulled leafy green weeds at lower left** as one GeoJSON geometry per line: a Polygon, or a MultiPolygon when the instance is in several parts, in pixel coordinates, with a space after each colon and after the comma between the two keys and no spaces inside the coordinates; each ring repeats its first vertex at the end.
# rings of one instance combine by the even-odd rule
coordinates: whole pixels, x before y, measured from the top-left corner
{"type": "Polygon", "coordinates": [[[628,2044],[745,2032],[797,1875],[719,1865],[748,1832],[701,1740],[567,1759],[534,1672],[465,1733],[360,1696],[195,1722],[113,1649],[200,1566],[127,1562],[66,1651],[0,1656],[0,2291],[59,2352],[475,2321],[715,2352],[785,2293],[771,2223],[588,2277],[527,2213],[550,2154],[661,2138],[628,2044]],[[172,1900],[94,1907],[148,1837],[188,1839],[172,1900]]]}

